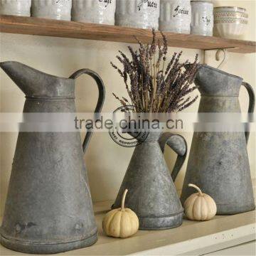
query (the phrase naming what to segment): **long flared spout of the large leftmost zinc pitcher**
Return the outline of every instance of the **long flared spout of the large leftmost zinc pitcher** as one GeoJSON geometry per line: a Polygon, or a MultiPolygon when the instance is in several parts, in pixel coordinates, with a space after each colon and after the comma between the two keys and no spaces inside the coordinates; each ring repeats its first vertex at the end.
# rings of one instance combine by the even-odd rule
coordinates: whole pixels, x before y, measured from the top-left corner
{"type": "Polygon", "coordinates": [[[27,97],[74,97],[71,79],[48,75],[16,61],[2,62],[0,67],[27,97]]]}

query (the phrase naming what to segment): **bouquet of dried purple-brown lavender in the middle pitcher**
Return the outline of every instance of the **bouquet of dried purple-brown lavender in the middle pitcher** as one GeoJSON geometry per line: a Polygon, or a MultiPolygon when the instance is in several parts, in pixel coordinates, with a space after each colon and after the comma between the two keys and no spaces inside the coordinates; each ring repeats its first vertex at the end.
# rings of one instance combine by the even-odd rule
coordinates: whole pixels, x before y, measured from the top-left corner
{"type": "Polygon", "coordinates": [[[181,54],[174,53],[169,63],[167,62],[167,40],[161,33],[162,40],[156,41],[156,33],[153,30],[151,44],[139,43],[139,50],[128,46],[132,58],[119,50],[117,59],[123,68],[111,63],[119,75],[124,79],[130,98],[114,97],[122,105],[133,105],[136,112],[178,112],[189,107],[198,96],[191,98],[189,95],[196,86],[192,85],[198,72],[198,55],[193,63],[186,60],[180,63],[181,54]],[[191,64],[191,65],[187,65],[191,64]],[[186,66],[186,68],[184,68],[186,66]]]}

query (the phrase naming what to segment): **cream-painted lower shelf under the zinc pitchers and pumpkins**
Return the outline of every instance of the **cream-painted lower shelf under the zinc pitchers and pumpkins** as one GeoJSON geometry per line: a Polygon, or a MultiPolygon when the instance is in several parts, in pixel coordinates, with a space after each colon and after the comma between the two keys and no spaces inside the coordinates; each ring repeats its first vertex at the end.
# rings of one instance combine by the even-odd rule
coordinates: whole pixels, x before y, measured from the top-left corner
{"type": "MultiPolygon", "coordinates": [[[[255,185],[255,182],[254,182],[255,185]]],[[[112,201],[94,204],[99,239],[91,247],[58,255],[203,255],[255,240],[256,211],[237,215],[219,215],[213,220],[197,222],[183,220],[170,230],[139,230],[131,238],[107,237],[102,230],[102,218],[112,201]]],[[[25,255],[0,245],[0,255],[25,255]]]]}

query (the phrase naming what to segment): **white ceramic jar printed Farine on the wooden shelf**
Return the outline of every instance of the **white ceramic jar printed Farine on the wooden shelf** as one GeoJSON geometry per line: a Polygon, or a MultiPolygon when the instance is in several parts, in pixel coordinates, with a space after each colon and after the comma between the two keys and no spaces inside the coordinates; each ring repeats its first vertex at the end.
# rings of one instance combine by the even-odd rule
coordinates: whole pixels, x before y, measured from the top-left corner
{"type": "Polygon", "coordinates": [[[161,0],[159,28],[161,31],[190,33],[191,1],[161,0]]]}

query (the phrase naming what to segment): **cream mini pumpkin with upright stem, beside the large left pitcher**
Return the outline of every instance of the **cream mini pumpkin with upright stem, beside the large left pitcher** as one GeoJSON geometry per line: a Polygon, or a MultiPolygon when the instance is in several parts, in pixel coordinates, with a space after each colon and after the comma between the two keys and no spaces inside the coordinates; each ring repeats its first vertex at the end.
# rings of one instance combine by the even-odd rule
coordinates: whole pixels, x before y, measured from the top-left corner
{"type": "Polygon", "coordinates": [[[137,233],[139,229],[139,219],[129,208],[124,208],[124,201],[127,189],[122,196],[121,208],[110,210],[102,221],[104,232],[114,238],[128,238],[137,233]]]}

